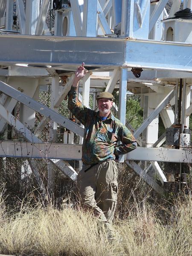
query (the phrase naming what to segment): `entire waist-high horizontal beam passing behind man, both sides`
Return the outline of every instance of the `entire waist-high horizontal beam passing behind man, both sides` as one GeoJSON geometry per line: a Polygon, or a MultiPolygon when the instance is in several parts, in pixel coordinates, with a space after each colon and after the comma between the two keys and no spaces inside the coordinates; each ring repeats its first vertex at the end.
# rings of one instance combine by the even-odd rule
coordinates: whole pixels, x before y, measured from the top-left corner
{"type": "MultiPolygon", "coordinates": [[[[126,160],[192,163],[191,149],[137,147],[126,160]]],[[[63,160],[81,160],[82,145],[60,143],[0,142],[0,157],[32,157],[63,160]]]]}

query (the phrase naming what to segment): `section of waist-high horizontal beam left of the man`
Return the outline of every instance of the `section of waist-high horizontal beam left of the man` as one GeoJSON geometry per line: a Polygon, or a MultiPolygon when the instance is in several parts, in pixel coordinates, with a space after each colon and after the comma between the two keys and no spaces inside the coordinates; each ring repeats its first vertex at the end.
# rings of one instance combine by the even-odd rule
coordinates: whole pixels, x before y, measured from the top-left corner
{"type": "Polygon", "coordinates": [[[81,160],[82,146],[59,143],[0,142],[0,157],[81,160]]]}

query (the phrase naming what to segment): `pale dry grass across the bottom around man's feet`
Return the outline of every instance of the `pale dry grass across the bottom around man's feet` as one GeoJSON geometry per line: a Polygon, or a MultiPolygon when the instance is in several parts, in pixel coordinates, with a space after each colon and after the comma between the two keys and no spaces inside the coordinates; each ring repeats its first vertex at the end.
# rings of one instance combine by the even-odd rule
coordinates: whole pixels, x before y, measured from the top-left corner
{"type": "Polygon", "coordinates": [[[191,196],[172,207],[172,218],[166,222],[160,221],[155,208],[147,206],[145,201],[134,204],[134,211],[127,219],[116,219],[115,228],[119,235],[110,243],[98,220],[88,212],[40,205],[31,208],[25,204],[14,213],[6,211],[1,197],[0,253],[48,256],[192,255],[191,196]]]}

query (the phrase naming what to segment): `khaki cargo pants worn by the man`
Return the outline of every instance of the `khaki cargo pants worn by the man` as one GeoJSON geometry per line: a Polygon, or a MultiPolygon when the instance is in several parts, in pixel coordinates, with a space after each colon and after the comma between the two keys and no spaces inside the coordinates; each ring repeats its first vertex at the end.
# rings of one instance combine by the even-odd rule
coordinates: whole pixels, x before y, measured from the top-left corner
{"type": "Polygon", "coordinates": [[[77,177],[81,201],[111,230],[118,192],[116,163],[114,160],[107,160],[87,169],[88,167],[83,165],[77,177]]]}

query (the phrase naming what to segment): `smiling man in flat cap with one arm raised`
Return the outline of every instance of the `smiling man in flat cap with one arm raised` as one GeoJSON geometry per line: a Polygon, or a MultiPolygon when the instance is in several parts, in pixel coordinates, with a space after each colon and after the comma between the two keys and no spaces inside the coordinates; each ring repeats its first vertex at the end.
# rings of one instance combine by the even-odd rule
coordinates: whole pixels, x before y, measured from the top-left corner
{"type": "Polygon", "coordinates": [[[81,105],[78,100],[79,80],[87,73],[84,63],[76,71],[68,94],[68,108],[84,125],[82,145],[83,168],[77,181],[84,206],[93,210],[104,221],[108,236],[113,236],[112,221],[117,201],[117,175],[115,158],[137,147],[135,138],[111,113],[113,95],[108,92],[97,96],[99,111],[81,105]],[[121,141],[121,145],[117,142],[121,141]]]}

